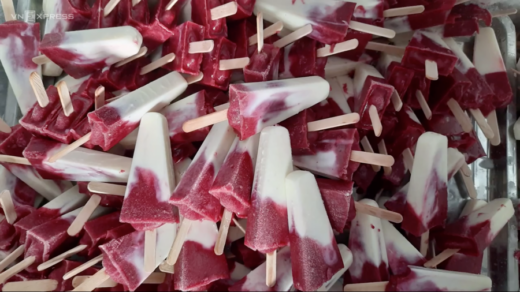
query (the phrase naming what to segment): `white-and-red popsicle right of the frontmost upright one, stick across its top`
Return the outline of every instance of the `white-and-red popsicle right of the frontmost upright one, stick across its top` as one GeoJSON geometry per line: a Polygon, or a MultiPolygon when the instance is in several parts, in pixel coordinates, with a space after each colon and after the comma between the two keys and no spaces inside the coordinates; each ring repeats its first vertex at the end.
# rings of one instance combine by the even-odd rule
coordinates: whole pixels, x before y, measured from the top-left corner
{"type": "MultiPolygon", "coordinates": [[[[363,199],[360,202],[377,207],[374,200],[363,199]]],[[[356,213],[350,227],[348,246],[353,256],[352,265],[346,277],[348,283],[388,280],[388,256],[381,219],[368,214],[356,213]]]]}

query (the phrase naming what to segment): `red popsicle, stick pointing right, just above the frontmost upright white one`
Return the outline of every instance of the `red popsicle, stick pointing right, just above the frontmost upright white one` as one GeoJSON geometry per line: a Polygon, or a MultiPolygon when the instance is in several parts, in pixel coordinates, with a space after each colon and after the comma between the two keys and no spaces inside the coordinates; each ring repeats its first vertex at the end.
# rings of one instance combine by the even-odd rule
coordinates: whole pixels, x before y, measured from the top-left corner
{"type": "Polygon", "coordinates": [[[360,151],[357,129],[328,130],[319,133],[316,154],[294,155],[294,165],[332,179],[352,180],[359,163],[391,166],[388,155],[360,151]]]}

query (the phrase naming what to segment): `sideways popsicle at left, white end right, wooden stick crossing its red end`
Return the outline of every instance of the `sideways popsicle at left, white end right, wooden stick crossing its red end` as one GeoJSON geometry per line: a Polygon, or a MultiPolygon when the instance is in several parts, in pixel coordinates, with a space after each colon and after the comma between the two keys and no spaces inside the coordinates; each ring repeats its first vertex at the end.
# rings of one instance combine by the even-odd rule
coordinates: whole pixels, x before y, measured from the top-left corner
{"type": "Polygon", "coordinates": [[[47,159],[65,144],[33,137],[23,154],[45,179],[126,182],[132,160],[102,151],[77,148],[56,162],[47,159]]]}

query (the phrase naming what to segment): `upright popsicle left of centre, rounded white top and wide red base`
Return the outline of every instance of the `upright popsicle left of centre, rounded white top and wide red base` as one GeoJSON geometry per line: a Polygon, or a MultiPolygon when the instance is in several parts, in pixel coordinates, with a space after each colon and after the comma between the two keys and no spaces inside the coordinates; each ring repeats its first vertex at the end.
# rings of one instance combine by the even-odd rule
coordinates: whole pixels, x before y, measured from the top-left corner
{"type": "Polygon", "coordinates": [[[147,113],[141,119],[120,221],[136,230],[179,223],[177,208],[168,203],[174,184],[166,118],[147,113]]]}

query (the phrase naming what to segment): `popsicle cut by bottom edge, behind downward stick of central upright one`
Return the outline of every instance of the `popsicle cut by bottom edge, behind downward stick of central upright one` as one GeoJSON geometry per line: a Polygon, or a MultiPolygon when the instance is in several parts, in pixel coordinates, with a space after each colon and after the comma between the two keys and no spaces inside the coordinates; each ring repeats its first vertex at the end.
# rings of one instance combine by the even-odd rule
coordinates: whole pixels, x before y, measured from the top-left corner
{"type": "Polygon", "coordinates": [[[280,249],[276,255],[276,285],[265,285],[266,263],[247,274],[246,277],[229,287],[229,291],[287,291],[293,285],[291,250],[289,247],[280,249]]]}

